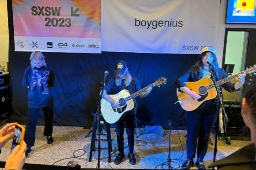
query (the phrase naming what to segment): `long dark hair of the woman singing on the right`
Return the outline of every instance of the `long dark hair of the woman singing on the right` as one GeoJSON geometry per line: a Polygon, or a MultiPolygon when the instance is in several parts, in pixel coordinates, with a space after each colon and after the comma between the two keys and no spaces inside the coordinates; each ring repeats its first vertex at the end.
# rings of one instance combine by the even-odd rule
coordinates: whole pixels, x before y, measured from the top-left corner
{"type": "MultiPolygon", "coordinates": [[[[204,55],[207,53],[207,51],[203,52],[202,54],[199,55],[198,61],[191,67],[193,73],[192,76],[197,77],[198,79],[203,78],[203,72],[202,69],[204,68],[204,63],[202,62],[202,59],[204,55]]],[[[212,64],[214,65],[214,70],[219,69],[219,64],[216,55],[213,54],[213,62],[212,64]]]]}

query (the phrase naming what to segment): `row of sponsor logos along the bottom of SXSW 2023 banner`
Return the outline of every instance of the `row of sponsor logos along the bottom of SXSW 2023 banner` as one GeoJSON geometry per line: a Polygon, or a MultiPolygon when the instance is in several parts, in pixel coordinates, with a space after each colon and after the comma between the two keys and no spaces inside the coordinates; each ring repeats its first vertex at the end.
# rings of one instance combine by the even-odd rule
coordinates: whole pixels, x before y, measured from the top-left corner
{"type": "MultiPolygon", "coordinates": [[[[23,48],[23,47],[25,47],[25,42],[23,40],[18,40],[17,41],[17,45],[19,47],[23,48]]],[[[38,48],[42,44],[38,43],[38,41],[31,41],[31,43],[28,44],[28,45],[31,46],[32,48],[38,48]]],[[[47,48],[53,48],[53,45],[55,45],[55,44],[53,44],[52,42],[47,42],[46,43],[46,47],[47,48]]],[[[66,43],[66,42],[59,42],[59,43],[56,44],[56,46],[58,48],[67,48],[69,46],[69,44],[66,43]]],[[[86,46],[84,44],[71,44],[71,47],[72,48],[75,48],[75,47],[76,48],[85,48],[86,46]]],[[[89,44],[88,48],[99,48],[99,45],[97,45],[97,44],[89,44]]]]}

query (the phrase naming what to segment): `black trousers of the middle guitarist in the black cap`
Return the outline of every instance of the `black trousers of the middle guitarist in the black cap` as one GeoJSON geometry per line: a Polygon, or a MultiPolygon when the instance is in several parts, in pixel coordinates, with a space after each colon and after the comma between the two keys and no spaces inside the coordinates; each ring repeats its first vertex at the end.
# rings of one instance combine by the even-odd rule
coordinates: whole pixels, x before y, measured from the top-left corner
{"type": "Polygon", "coordinates": [[[124,153],[124,125],[128,139],[129,152],[133,152],[134,147],[134,129],[135,115],[125,115],[122,120],[115,123],[118,151],[124,153]]]}

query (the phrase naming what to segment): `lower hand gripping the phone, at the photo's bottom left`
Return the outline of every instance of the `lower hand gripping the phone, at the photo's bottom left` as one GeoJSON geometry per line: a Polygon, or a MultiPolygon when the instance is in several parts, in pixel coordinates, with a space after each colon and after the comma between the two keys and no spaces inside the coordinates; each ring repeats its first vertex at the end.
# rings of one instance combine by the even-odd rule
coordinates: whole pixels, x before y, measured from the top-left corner
{"type": "Polygon", "coordinates": [[[22,145],[17,145],[6,160],[5,170],[21,170],[25,164],[26,143],[23,140],[22,145]]]}

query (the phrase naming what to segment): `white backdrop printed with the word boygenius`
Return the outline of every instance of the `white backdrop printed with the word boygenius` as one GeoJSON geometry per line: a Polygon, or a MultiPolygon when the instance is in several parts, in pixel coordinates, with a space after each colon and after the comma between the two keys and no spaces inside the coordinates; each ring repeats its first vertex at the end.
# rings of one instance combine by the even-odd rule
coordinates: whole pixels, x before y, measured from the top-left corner
{"type": "Polygon", "coordinates": [[[102,51],[199,54],[215,46],[220,0],[102,0],[102,51]]]}

